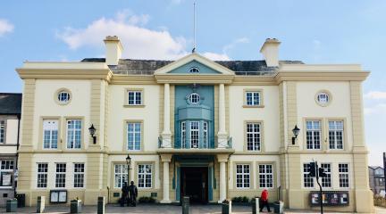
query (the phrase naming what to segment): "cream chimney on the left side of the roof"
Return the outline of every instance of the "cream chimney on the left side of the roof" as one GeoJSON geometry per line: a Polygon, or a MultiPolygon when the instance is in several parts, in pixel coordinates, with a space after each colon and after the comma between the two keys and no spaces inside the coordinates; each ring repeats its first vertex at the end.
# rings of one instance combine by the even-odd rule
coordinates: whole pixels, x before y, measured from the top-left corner
{"type": "Polygon", "coordinates": [[[107,65],[118,65],[123,47],[117,36],[105,37],[105,62],[107,65]]]}

